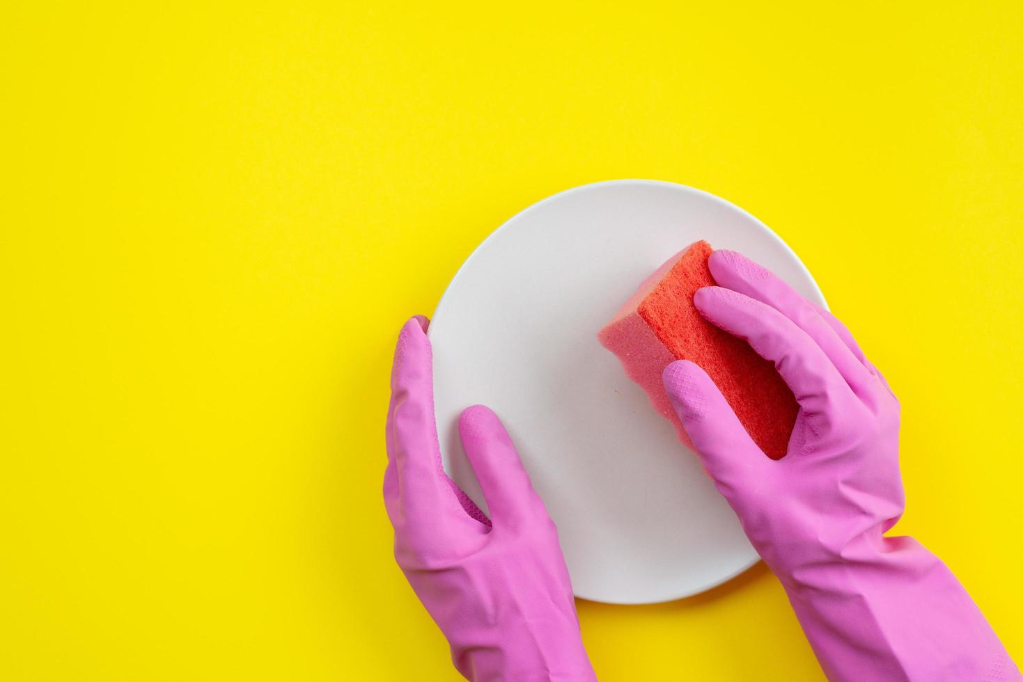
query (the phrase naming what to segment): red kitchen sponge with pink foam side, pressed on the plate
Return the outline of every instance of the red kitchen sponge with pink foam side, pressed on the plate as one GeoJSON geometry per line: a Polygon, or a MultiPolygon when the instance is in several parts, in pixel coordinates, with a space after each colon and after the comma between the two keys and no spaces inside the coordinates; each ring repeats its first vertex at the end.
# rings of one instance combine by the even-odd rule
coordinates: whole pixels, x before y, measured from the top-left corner
{"type": "Polygon", "coordinates": [[[715,283],[707,266],[712,251],[706,241],[697,241],[669,259],[597,337],[690,447],[693,443],[661,383],[661,372],[676,359],[700,365],[760,449],[771,459],[781,459],[799,411],[792,391],[773,363],[705,320],[693,305],[697,289],[715,283]]]}

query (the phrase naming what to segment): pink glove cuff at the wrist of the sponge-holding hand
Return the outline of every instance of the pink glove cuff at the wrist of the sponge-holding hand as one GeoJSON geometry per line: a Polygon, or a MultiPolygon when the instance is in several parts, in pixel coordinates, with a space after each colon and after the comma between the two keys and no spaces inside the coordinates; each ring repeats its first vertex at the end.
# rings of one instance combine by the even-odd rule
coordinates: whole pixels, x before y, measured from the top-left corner
{"type": "Polygon", "coordinates": [[[1019,679],[970,595],[913,538],[850,542],[779,577],[829,679],[988,679],[1002,668],[1019,679]]]}

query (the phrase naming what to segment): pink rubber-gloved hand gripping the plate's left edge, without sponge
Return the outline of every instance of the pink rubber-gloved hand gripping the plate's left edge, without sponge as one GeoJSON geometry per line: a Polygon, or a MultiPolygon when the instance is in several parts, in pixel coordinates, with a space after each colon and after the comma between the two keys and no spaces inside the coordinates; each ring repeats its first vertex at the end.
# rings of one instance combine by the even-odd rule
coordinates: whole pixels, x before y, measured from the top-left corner
{"type": "Polygon", "coordinates": [[[458,430],[490,518],[441,466],[425,317],[398,336],[384,501],[394,554],[471,680],[595,680],[558,531],[515,446],[483,406],[458,430]]]}

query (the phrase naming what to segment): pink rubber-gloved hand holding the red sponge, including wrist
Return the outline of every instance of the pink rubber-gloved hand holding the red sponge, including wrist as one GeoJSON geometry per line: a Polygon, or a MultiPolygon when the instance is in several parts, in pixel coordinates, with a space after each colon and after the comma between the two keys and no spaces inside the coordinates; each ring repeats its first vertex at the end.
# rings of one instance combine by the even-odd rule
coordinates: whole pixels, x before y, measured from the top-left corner
{"type": "Polygon", "coordinates": [[[832,680],[1019,680],[951,572],[884,533],[903,509],[899,404],[849,331],[773,274],[727,251],[704,317],[771,360],[800,406],[788,454],[768,459],[697,365],[664,385],[718,490],[785,586],[832,680]]]}

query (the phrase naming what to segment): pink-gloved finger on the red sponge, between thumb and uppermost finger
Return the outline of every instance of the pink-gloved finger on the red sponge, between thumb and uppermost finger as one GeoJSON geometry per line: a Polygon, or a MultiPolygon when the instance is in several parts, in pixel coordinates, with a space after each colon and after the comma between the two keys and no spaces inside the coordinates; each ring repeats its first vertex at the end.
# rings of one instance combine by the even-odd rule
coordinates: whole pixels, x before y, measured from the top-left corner
{"type": "Polygon", "coordinates": [[[767,304],[720,286],[698,289],[693,303],[709,322],[746,339],[757,355],[773,362],[803,410],[819,413],[852,398],[820,347],[767,304]]]}

